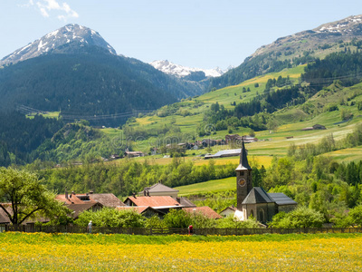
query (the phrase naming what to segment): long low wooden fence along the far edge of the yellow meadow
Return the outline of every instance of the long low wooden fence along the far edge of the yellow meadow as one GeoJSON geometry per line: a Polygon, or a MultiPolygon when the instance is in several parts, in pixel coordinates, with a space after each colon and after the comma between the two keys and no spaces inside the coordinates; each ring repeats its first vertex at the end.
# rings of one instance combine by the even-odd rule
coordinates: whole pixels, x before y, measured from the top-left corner
{"type": "MultiPolygon", "coordinates": [[[[34,226],[0,225],[0,232],[45,232],[45,233],[87,233],[86,227],[79,226],[34,226]]],[[[195,235],[252,235],[290,233],[362,233],[362,228],[194,228],[195,235]]],[[[188,234],[187,228],[100,228],[92,227],[91,233],[130,235],[170,235],[188,234]]]]}

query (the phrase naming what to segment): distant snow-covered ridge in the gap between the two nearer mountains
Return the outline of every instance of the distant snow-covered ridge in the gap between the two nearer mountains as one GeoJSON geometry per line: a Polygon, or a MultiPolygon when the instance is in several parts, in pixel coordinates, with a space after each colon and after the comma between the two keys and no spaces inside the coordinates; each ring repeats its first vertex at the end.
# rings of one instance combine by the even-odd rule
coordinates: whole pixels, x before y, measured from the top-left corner
{"type": "Polygon", "coordinates": [[[149,64],[151,64],[157,70],[162,71],[163,73],[176,75],[177,77],[184,77],[194,72],[204,72],[206,77],[216,77],[226,72],[219,67],[216,67],[215,69],[189,68],[176,63],[168,62],[167,60],[154,61],[149,64]]]}

